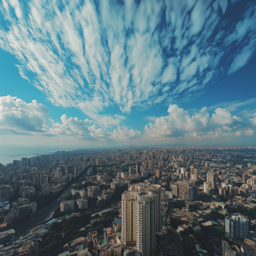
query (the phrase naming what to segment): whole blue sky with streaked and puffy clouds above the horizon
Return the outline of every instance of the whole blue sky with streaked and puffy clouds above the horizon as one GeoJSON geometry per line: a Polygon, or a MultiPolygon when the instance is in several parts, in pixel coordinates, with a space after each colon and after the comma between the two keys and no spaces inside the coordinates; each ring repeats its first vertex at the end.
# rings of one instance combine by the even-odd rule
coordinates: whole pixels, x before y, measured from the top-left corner
{"type": "Polygon", "coordinates": [[[256,2],[0,0],[0,147],[255,145],[256,2]]]}

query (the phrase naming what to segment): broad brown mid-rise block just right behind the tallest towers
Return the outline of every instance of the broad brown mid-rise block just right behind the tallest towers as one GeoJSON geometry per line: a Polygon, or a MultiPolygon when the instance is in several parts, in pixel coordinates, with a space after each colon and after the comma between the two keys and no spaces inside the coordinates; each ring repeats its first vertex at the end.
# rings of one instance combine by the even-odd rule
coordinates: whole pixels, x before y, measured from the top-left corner
{"type": "Polygon", "coordinates": [[[177,184],[172,185],[172,192],[174,196],[187,202],[192,202],[198,197],[197,186],[189,182],[178,181],[177,184]]]}

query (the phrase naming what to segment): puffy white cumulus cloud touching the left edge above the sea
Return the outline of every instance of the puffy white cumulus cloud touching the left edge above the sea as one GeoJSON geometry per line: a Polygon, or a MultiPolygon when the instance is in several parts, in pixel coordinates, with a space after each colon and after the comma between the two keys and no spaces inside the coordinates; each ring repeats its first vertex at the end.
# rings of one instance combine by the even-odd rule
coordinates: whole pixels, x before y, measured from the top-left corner
{"type": "Polygon", "coordinates": [[[0,129],[15,132],[44,132],[44,117],[48,109],[32,100],[26,103],[17,97],[0,97],[0,129]]]}

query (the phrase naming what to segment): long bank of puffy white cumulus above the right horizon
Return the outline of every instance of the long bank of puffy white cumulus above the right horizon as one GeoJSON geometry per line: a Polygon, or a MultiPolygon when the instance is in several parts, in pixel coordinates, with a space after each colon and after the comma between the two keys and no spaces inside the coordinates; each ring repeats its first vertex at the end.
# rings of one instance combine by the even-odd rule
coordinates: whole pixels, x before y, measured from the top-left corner
{"type": "Polygon", "coordinates": [[[170,104],[168,115],[156,118],[145,125],[144,138],[214,138],[220,136],[252,136],[254,131],[244,127],[247,122],[232,114],[227,109],[217,108],[210,116],[207,108],[189,115],[188,111],[170,104]]]}

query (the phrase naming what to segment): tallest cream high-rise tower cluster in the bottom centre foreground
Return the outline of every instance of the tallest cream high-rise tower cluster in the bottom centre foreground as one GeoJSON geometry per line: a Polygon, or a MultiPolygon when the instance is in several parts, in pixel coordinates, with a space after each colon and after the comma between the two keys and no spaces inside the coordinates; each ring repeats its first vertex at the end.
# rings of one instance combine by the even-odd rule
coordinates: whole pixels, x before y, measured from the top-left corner
{"type": "Polygon", "coordinates": [[[122,243],[136,245],[141,255],[156,253],[156,232],[161,230],[161,186],[132,184],[122,194],[122,243]]]}

